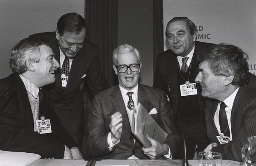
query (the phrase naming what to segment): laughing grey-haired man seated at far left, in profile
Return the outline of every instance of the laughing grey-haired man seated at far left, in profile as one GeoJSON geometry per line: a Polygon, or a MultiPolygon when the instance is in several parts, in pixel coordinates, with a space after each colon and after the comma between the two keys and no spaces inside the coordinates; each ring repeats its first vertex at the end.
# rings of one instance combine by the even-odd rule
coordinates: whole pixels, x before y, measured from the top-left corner
{"type": "Polygon", "coordinates": [[[54,83],[59,67],[49,43],[37,38],[20,40],[12,48],[10,66],[14,73],[0,80],[0,149],[43,158],[81,158],[43,88],[54,83]]]}

